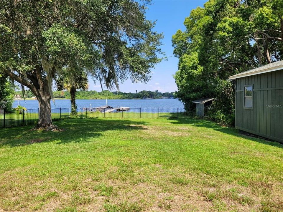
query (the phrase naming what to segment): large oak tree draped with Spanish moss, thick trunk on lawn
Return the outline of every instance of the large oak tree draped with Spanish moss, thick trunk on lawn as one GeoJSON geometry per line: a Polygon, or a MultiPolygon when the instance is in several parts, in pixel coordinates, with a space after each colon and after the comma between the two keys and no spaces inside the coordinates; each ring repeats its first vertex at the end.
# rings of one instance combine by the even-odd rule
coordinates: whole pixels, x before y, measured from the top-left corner
{"type": "Polygon", "coordinates": [[[82,69],[107,88],[146,82],[160,62],[161,34],[133,0],[0,0],[0,70],[39,102],[38,127],[52,125],[52,81],[82,69]]]}

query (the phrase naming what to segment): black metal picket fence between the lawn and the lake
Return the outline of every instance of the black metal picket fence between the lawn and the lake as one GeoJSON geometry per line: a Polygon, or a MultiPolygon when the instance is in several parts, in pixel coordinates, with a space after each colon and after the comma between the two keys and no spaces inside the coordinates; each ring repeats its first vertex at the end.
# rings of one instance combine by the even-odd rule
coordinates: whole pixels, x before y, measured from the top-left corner
{"type": "MultiPolygon", "coordinates": [[[[78,108],[72,114],[71,108],[51,109],[52,120],[62,120],[66,118],[194,118],[199,114],[205,114],[203,111],[190,110],[184,108],[78,108]]],[[[15,127],[21,125],[36,124],[39,118],[39,109],[28,110],[1,110],[0,127],[15,127]]]]}

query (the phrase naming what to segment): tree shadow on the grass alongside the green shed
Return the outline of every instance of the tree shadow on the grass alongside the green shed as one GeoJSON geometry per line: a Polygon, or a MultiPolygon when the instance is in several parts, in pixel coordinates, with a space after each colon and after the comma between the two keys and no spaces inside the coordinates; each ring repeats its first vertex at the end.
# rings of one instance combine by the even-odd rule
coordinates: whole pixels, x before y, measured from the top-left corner
{"type": "Polygon", "coordinates": [[[262,143],[265,145],[271,145],[278,148],[283,148],[283,145],[276,141],[267,140],[265,138],[256,138],[249,135],[244,135],[239,133],[239,130],[235,129],[234,127],[222,127],[214,122],[205,120],[205,119],[176,119],[175,122],[170,122],[172,124],[190,124],[195,127],[206,127],[210,128],[219,132],[223,132],[229,135],[236,136],[238,138],[249,139],[252,141],[256,141],[258,143],[262,143]]]}

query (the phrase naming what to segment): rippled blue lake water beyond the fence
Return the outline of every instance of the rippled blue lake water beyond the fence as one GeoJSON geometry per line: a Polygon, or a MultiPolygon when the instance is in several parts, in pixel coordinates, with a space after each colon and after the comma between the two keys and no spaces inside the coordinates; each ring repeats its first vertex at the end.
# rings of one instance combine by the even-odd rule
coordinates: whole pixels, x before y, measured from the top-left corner
{"type": "MultiPolygon", "coordinates": [[[[14,100],[13,107],[22,105],[27,109],[38,108],[37,100],[14,100]]],[[[78,108],[80,107],[99,107],[106,105],[106,100],[76,100],[78,108]]],[[[145,99],[145,100],[107,100],[107,104],[111,107],[184,107],[182,102],[177,99],[145,99]]],[[[71,107],[69,99],[55,100],[55,104],[51,100],[51,108],[66,108],[71,107]]]]}

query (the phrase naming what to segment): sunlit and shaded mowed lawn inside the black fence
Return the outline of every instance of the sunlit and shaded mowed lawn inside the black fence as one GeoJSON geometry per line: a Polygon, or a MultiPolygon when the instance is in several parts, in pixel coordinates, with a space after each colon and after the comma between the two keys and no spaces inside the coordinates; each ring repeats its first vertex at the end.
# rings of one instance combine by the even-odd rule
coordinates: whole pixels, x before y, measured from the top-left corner
{"type": "Polygon", "coordinates": [[[1,129],[0,211],[283,211],[283,145],[206,120],[1,129]]]}

